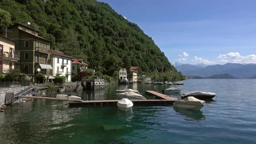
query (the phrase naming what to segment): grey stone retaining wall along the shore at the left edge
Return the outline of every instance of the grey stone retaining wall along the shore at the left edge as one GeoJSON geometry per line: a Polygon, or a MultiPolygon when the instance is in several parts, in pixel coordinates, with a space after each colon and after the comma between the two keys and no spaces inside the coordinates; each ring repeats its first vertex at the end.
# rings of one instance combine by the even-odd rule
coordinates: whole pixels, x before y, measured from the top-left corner
{"type": "MultiPolygon", "coordinates": [[[[4,98],[6,92],[14,92],[14,94],[16,94],[17,92],[20,92],[21,90],[28,87],[29,86],[21,86],[16,88],[0,88],[0,105],[4,105],[4,98]]],[[[14,101],[14,103],[18,103],[25,100],[27,100],[27,98],[20,98],[18,101],[14,101]]],[[[10,101],[7,101],[7,104],[10,104],[10,101]]]]}

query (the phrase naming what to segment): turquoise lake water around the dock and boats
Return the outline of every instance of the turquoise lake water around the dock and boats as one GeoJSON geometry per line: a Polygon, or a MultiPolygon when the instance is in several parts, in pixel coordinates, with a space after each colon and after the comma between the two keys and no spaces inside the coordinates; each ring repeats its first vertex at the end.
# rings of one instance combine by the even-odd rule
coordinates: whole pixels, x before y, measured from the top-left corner
{"type": "MultiPolygon", "coordinates": [[[[182,92],[217,93],[201,111],[169,106],[68,108],[65,101],[33,100],[0,113],[3,144],[255,144],[256,79],[189,79],[182,92]]],[[[84,100],[116,99],[113,85],[100,91],[79,91],[84,100]],[[88,96],[87,96],[88,95],[88,96]],[[91,97],[92,95],[92,97],[91,97]]],[[[128,88],[161,92],[167,85],[135,84],[128,88]],[[155,88],[154,88],[155,86],[155,88]]],[[[144,93],[142,92],[144,95],[144,93]]],[[[174,95],[175,97],[175,95],[174,95]]]]}

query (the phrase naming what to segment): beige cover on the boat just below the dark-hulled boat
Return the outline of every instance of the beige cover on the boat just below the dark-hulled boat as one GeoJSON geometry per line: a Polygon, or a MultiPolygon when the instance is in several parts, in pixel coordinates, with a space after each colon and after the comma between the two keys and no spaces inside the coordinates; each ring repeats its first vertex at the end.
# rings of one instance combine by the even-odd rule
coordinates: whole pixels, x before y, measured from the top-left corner
{"type": "Polygon", "coordinates": [[[174,105],[175,104],[203,106],[203,105],[205,105],[205,101],[197,99],[197,98],[195,98],[193,96],[189,96],[189,97],[184,98],[182,100],[175,101],[174,105]]]}

